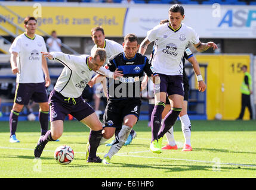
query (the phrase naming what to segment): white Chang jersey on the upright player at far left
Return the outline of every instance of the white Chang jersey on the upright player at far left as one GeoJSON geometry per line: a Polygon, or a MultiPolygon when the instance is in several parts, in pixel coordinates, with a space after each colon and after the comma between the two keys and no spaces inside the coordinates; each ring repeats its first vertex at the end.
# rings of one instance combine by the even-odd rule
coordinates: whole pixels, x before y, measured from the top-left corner
{"type": "Polygon", "coordinates": [[[17,66],[20,73],[17,74],[17,83],[44,83],[41,52],[47,52],[47,48],[42,36],[35,34],[35,37],[30,39],[26,34],[20,34],[9,52],[18,53],[17,66]]]}

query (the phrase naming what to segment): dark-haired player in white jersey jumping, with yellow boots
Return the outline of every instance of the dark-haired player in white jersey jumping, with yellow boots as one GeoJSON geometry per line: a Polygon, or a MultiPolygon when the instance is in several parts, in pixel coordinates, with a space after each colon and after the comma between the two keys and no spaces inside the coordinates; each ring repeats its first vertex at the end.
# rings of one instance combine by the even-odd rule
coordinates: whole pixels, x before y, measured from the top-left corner
{"type": "MultiPolygon", "coordinates": [[[[181,112],[184,88],[183,88],[183,63],[184,51],[192,43],[196,50],[203,52],[209,47],[217,48],[214,42],[201,43],[198,34],[191,27],[181,23],[184,19],[184,8],[175,4],[169,9],[169,23],[158,25],[147,32],[147,37],[141,43],[139,52],[144,54],[147,45],[155,41],[155,55],[152,59],[152,66],[161,79],[160,85],[155,85],[155,107],[152,112],[152,140],[150,150],[153,153],[162,153],[162,138],[165,133],[174,125],[181,112]],[[161,116],[165,107],[166,94],[173,106],[165,116],[161,126],[161,116]],[[161,126],[161,128],[160,128],[161,126]],[[160,129],[160,130],[159,130],[160,129]]],[[[202,75],[198,75],[198,80],[202,75]]]]}

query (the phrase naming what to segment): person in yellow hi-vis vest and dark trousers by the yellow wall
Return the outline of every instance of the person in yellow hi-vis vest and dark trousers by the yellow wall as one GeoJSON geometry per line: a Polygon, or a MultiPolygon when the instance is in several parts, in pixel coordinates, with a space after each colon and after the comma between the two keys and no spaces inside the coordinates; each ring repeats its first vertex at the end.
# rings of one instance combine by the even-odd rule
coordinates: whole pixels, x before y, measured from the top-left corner
{"type": "Polygon", "coordinates": [[[240,115],[237,120],[243,119],[243,115],[245,113],[245,107],[248,107],[250,112],[250,119],[252,119],[252,106],[251,106],[251,94],[252,94],[252,77],[247,71],[247,66],[242,66],[242,71],[245,74],[243,77],[243,83],[240,87],[240,92],[242,93],[242,107],[240,111],[240,115]]]}

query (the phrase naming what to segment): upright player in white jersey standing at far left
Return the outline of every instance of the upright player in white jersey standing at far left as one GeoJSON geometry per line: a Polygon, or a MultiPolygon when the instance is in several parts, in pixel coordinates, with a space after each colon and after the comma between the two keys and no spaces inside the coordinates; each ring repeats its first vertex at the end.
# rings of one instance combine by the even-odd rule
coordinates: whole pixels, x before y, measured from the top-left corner
{"type": "Polygon", "coordinates": [[[10,143],[20,142],[16,138],[18,115],[23,106],[29,103],[29,99],[39,103],[41,135],[48,130],[49,105],[45,87],[50,85],[51,80],[47,61],[41,55],[41,52],[47,51],[47,48],[43,37],[35,34],[36,19],[34,17],[24,19],[24,28],[25,32],[16,37],[9,50],[11,71],[17,75],[16,94],[10,114],[10,143]]]}

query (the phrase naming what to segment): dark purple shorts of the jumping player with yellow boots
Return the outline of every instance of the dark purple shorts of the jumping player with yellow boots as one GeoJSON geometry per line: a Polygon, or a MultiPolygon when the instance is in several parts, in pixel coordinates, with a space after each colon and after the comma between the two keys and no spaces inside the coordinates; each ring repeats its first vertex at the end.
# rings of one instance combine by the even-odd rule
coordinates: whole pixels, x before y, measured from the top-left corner
{"type": "Polygon", "coordinates": [[[168,96],[172,94],[179,94],[184,96],[184,85],[182,75],[164,75],[159,74],[160,84],[154,84],[154,91],[166,92],[168,96]]]}

